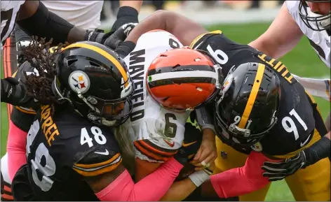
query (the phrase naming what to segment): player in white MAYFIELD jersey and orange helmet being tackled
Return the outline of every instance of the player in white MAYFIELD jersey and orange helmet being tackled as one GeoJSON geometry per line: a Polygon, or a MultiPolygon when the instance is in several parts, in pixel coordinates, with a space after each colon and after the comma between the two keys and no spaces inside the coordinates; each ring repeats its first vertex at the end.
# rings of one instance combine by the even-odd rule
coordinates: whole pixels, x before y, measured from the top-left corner
{"type": "MultiPolygon", "coordinates": [[[[196,106],[217,94],[220,67],[214,66],[207,55],[182,47],[173,34],[150,31],[139,38],[133,52],[124,59],[135,83],[135,94],[130,118],[116,129],[116,138],[125,150],[123,159],[135,161],[135,168],[126,167],[131,167],[136,181],[171,159],[182,146],[191,147],[194,159],[204,145],[196,158],[198,166],[202,162],[208,167],[217,157],[215,134],[208,128],[203,128],[201,134],[191,129],[187,120],[196,106]]],[[[182,201],[208,179],[208,170],[194,172],[194,166],[191,170],[189,167],[162,201],[182,201]]]]}

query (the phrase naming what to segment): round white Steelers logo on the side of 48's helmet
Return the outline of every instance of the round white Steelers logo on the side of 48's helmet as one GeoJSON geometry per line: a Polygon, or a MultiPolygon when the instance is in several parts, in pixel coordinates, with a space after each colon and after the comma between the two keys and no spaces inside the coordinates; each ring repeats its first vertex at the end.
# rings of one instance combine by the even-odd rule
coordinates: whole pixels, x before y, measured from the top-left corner
{"type": "Polygon", "coordinates": [[[73,71],[69,75],[69,86],[76,93],[84,94],[90,88],[90,78],[83,71],[73,71]]]}

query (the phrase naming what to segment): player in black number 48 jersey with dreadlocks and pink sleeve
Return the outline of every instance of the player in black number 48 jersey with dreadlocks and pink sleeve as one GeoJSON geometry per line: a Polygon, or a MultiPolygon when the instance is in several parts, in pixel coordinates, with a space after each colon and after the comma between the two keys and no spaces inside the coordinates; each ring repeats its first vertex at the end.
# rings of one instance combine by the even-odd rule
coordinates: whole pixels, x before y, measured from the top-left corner
{"type": "Polygon", "coordinates": [[[36,68],[27,93],[41,105],[27,136],[27,165],[13,179],[17,201],[158,201],[187,162],[178,152],[135,184],[109,127],[125,122],[134,85],[114,51],[83,41],[53,53],[49,43],[24,48],[36,68]],[[40,53],[43,52],[41,57],[40,53]],[[145,192],[149,190],[149,192],[145,192]]]}

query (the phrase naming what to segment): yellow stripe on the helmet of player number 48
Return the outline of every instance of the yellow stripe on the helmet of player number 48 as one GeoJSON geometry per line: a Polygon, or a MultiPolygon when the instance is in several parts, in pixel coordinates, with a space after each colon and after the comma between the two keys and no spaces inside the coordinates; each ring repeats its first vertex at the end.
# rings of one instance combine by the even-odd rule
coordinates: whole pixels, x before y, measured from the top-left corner
{"type": "MultiPolygon", "coordinates": [[[[110,55],[108,52],[102,50],[101,48],[98,48],[94,45],[90,45],[90,44],[86,44],[86,43],[73,43],[72,45],[68,45],[63,50],[66,50],[68,48],[86,48],[86,49],[93,50],[93,51],[99,53],[103,57],[106,57],[107,59],[109,59],[116,66],[116,68],[121,73],[124,81],[128,80],[128,75],[126,74],[126,71],[124,70],[123,66],[119,63],[119,61],[117,59],[115,59],[112,55],[110,55]]],[[[128,82],[126,82],[124,84],[125,87],[127,87],[127,85],[128,85],[128,82]]]]}

